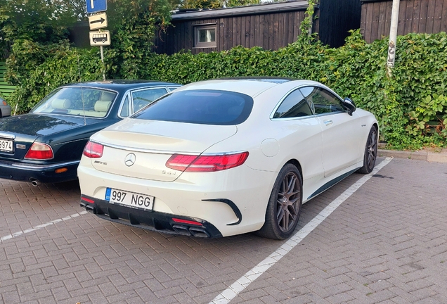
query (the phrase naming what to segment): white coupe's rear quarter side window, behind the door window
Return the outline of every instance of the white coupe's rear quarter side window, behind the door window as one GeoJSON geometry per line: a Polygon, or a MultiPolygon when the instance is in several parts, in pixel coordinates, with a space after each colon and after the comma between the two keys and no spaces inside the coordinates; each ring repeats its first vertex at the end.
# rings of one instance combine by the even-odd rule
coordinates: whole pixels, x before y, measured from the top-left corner
{"type": "Polygon", "coordinates": [[[280,104],[273,118],[298,118],[312,115],[311,106],[297,89],[292,91],[280,104]]]}

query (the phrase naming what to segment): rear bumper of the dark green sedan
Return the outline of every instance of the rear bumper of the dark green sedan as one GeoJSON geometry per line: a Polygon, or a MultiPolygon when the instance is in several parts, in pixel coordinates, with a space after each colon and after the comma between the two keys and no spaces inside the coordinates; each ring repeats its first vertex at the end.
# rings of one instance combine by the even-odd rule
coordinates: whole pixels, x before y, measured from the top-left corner
{"type": "Polygon", "coordinates": [[[0,178],[27,182],[37,180],[43,183],[67,182],[77,179],[78,165],[79,160],[48,165],[0,160],[0,178]],[[56,170],[62,168],[67,168],[67,171],[56,173],[56,170]]]}

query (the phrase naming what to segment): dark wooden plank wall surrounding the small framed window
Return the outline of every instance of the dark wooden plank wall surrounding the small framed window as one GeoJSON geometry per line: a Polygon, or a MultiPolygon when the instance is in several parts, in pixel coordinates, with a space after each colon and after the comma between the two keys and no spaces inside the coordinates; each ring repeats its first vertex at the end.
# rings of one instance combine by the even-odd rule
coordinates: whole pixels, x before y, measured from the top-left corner
{"type": "MultiPolygon", "coordinates": [[[[154,51],[168,55],[182,49],[190,49],[193,53],[209,53],[238,45],[277,50],[297,40],[304,13],[305,11],[288,11],[205,20],[172,20],[174,27],[169,27],[166,33],[158,32],[156,35],[154,51]],[[193,25],[207,23],[216,23],[216,47],[195,48],[193,25]]],[[[318,18],[313,30],[318,31],[318,18]]]]}

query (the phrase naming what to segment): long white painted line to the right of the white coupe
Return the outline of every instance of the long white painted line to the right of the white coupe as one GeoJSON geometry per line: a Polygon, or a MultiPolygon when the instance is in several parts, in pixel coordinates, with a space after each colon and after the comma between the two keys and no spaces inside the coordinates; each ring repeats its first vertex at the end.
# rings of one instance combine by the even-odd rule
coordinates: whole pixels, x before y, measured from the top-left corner
{"type": "Polygon", "coordinates": [[[352,186],[350,186],[346,191],[340,194],[334,201],[332,201],[326,208],[324,208],[316,217],[306,224],[306,226],[299,229],[297,233],[292,235],[290,239],[288,239],[283,246],[276,249],[271,255],[268,255],[263,261],[259,262],[258,265],[254,266],[252,270],[249,270],[242,277],[235,281],[231,286],[229,286],[226,290],[219,293],[216,298],[214,298],[209,304],[228,304],[230,303],[235,296],[238,296],[240,292],[246,289],[252,281],[261,276],[264,272],[268,270],[271,266],[275,265],[283,256],[285,256],[289,251],[291,251],[295,246],[299,244],[309,233],[313,231],[326,217],[328,217],[335,209],[342,205],[344,201],[346,201],[349,196],[354,194],[365,182],[368,181],[372,177],[372,175],[377,174],[382,167],[388,165],[388,163],[393,158],[385,158],[379,165],[375,166],[374,170],[369,175],[365,175],[358,179],[352,186]]]}

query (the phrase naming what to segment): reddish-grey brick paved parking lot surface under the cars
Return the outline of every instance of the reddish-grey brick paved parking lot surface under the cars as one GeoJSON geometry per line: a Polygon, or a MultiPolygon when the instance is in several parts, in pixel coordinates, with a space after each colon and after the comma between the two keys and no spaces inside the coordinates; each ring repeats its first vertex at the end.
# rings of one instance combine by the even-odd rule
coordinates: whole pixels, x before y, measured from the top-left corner
{"type": "MultiPolygon", "coordinates": [[[[297,231],[362,177],[306,203],[297,231]]],[[[286,243],[101,220],[77,182],[0,185],[0,303],[209,303],[286,243]]],[[[394,158],[231,303],[447,303],[446,232],[447,163],[394,158]]]]}

